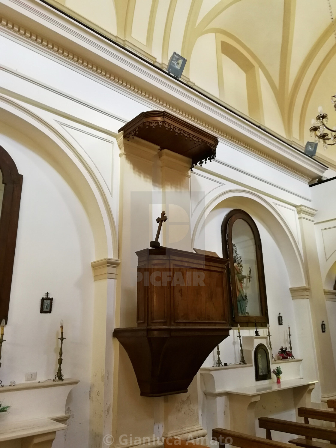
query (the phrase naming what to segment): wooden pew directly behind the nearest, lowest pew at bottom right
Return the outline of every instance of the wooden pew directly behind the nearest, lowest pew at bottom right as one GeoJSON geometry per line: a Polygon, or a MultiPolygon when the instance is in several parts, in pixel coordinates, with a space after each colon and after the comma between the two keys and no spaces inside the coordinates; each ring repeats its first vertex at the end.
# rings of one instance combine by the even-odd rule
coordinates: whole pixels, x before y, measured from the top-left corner
{"type": "Polygon", "coordinates": [[[280,431],[289,434],[303,435],[306,439],[293,439],[289,443],[300,447],[318,447],[318,448],[336,448],[335,444],[324,442],[315,442],[314,439],[328,440],[336,442],[336,429],[324,428],[323,426],[307,425],[306,423],[290,422],[288,420],[279,420],[278,418],[260,417],[259,428],[266,429],[266,439],[271,440],[271,431],[280,431]]]}

